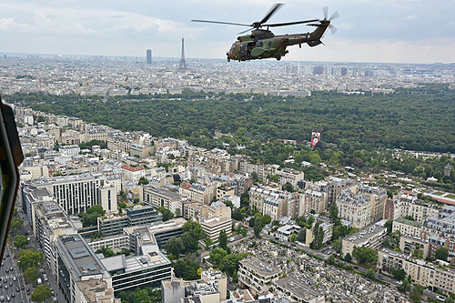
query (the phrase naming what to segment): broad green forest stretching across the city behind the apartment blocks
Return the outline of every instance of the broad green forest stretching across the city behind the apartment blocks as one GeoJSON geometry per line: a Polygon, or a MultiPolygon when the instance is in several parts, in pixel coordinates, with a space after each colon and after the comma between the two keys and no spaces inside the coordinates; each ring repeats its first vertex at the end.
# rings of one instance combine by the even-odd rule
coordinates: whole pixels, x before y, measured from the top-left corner
{"type": "MultiPolygon", "coordinates": [[[[431,186],[455,190],[455,159],[397,157],[381,147],[455,151],[455,91],[445,85],[398,89],[387,96],[345,96],[317,92],[306,98],[251,94],[206,94],[185,90],[181,95],[52,96],[15,94],[7,102],[31,106],[57,115],[77,116],[124,131],[144,130],[153,136],[187,138],[195,146],[226,148],[252,161],[305,171],[319,180],[329,171],[318,166],[352,166],[364,172],[398,171],[425,180],[431,186]],[[322,141],[308,148],[311,129],[324,128],[322,141]],[[231,136],[218,136],[215,131],[231,136]],[[298,140],[297,146],[279,139],[298,140]],[[265,144],[265,142],[268,142],[265,144]],[[327,143],[335,143],[329,146],[327,143]],[[238,150],[236,146],[246,146],[238,150]],[[289,163],[289,158],[294,159],[289,163]],[[285,162],[286,161],[286,162],[285,162]],[[302,167],[301,162],[313,164],[302,167]],[[443,177],[450,164],[450,177],[443,177]]],[[[38,116],[37,120],[45,118],[38,116]]]]}

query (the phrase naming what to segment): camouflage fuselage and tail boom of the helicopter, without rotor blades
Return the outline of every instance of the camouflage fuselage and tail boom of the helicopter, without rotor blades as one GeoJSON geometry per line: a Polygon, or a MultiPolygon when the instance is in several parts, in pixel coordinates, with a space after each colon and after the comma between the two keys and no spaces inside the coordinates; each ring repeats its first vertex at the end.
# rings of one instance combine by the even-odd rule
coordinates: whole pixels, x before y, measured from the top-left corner
{"type": "Polygon", "coordinates": [[[255,29],[250,35],[240,35],[227,51],[227,61],[248,61],[256,59],[276,58],[280,60],[282,56],[288,54],[286,48],[289,45],[308,44],[309,46],[320,45],[321,36],[329,27],[330,21],[324,20],[311,33],[274,35],[269,30],[255,29]]]}

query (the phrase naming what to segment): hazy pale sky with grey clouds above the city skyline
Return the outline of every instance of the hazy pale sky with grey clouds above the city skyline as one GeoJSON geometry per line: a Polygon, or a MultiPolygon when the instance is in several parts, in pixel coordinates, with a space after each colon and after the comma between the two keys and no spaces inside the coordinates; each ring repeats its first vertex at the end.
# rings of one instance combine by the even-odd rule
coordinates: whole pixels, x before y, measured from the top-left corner
{"type": "MultiPolygon", "coordinates": [[[[260,20],[277,1],[268,0],[0,0],[0,52],[74,55],[225,58],[236,23],[260,20]]],[[[290,0],[269,22],[322,18],[322,6],[340,17],[326,45],[288,48],[288,60],[433,63],[455,62],[455,0],[290,0]]],[[[275,34],[314,27],[280,27],[275,34]]]]}

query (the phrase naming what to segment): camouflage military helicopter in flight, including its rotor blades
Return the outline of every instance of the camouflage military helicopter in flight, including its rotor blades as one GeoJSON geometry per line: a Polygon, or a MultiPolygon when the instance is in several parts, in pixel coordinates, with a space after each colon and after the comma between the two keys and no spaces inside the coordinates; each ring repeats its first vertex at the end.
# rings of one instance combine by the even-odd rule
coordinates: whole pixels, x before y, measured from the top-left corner
{"type": "Polygon", "coordinates": [[[262,18],[262,20],[254,22],[250,25],[239,24],[232,22],[221,22],[221,21],[209,21],[209,20],[191,20],[192,22],[202,22],[202,23],[214,23],[221,25],[240,25],[252,27],[246,31],[240,32],[238,34],[245,34],[251,30],[249,35],[239,35],[237,41],[234,42],[231,48],[227,51],[227,62],[230,60],[236,61],[248,61],[248,60],[257,60],[257,59],[267,59],[267,58],[276,58],[278,61],[281,60],[281,57],[288,54],[286,49],[289,45],[298,45],[300,48],[302,44],[308,44],[313,47],[316,45],[322,44],[320,40],[324,35],[326,30],[329,28],[332,34],[335,34],[337,29],[330,25],[330,22],[339,17],[339,13],[335,12],[329,18],[327,17],[329,13],[329,7],[325,6],[322,8],[324,14],[324,19],[311,19],[303,21],[294,21],[294,22],[285,22],[285,23],[274,23],[266,24],[268,19],[274,15],[278,8],[283,4],[273,5],[272,8],[268,11],[268,14],[262,18]],[[308,24],[310,26],[316,26],[316,29],[311,33],[305,34],[291,34],[291,35],[274,35],[269,28],[278,27],[278,26],[288,26],[288,25],[300,25],[308,24]],[[267,29],[263,29],[266,27],[267,29]]]}

